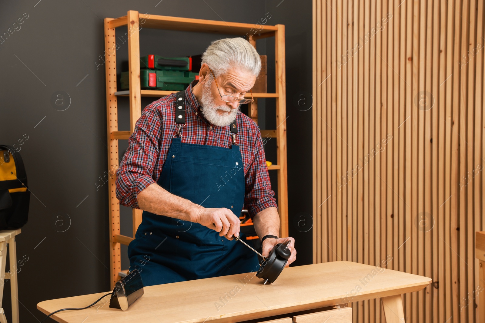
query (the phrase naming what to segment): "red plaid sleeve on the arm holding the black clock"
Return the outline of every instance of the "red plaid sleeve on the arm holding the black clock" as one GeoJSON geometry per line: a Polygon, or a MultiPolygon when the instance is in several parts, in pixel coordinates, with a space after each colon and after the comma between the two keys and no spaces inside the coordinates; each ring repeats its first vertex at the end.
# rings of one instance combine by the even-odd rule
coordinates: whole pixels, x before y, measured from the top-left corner
{"type": "Polygon", "coordinates": [[[268,207],[278,207],[274,198],[275,192],[271,189],[268,166],[266,165],[266,157],[259,128],[254,147],[254,159],[245,176],[246,196],[244,198],[244,206],[251,219],[268,207]]]}

